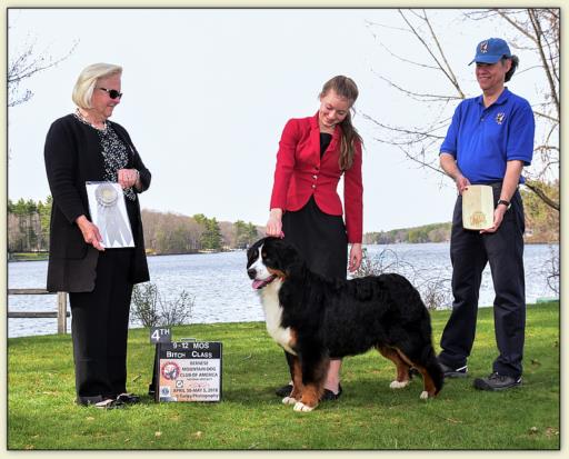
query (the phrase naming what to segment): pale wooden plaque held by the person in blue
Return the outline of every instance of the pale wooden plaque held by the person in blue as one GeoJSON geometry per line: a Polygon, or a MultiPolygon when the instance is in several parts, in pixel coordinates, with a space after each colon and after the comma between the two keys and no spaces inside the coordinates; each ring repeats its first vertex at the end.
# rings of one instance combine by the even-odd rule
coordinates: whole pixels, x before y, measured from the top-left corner
{"type": "Polygon", "coordinates": [[[488,184],[470,184],[462,192],[462,227],[481,230],[493,223],[492,187],[488,184]]]}

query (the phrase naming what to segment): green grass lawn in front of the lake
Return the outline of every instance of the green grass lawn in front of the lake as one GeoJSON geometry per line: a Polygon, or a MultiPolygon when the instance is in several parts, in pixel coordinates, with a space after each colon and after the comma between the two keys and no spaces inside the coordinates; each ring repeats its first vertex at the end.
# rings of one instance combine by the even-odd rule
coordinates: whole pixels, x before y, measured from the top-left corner
{"type": "MultiPolygon", "coordinates": [[[[438,348],[449,311],[432,313],[438,348]]],[[[142,402],[120,410],[78,407],[70,336],[8,340],[8,449],[197,450],[557,450],[560,447],[559,303],[528,308],[523,386],[482,392],[496,357],[492,309],[479,311],[470,377],[420,400],[421,380],[389,389],[395,368],[370,351],[345,360],[345,393],[308,413],[274,396],[288,381],[264,323],[192,325],[173,337],[223,342],[221,402],[154,403],[146,396],[153,347],[129,337],[129,390],[142,402]]]]}

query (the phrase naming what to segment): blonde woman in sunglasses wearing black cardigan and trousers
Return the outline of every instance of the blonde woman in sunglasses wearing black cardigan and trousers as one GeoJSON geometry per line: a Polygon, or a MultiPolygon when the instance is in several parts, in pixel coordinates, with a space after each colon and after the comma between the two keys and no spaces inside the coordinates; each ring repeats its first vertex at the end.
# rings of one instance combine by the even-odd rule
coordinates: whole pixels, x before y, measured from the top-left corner
{"type": "Polygon", "coordinates": [[[51,212],[48,290],[69,292],[77,403],[117,408],[127,392],[127,337],[132,287],[149,280],[138,193],[150,186],[130,137],[109,121],[120,103],[122,68],[87,67],[73,88],[74,113],[56,120],[44,148],[51,212]],[[134,248],[104,250],[91,221],[87,181],[118,182],[134,248]]]}

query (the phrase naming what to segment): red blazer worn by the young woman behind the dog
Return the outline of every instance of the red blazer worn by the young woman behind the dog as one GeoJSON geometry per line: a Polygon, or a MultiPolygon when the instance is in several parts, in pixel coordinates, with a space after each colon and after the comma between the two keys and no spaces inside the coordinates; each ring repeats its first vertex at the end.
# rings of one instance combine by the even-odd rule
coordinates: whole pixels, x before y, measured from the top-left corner
{"type": "MultiPolygon", "coordinates": [[[[345,171],[340,170],[341,128],[336,127],[332,140],[320,161],[320,129],[318,113],[309,118],[291,119],[284,126],[277,153],[272,186],[271,209],[301,209],[313,194],[318,208],[332,216],[342,214],[337,192],[345,171]]],[[[348,242],[361,242],[362,233],[361,144],[356,143],[352,167],[343,178],[343,204],[348,242]]]]}

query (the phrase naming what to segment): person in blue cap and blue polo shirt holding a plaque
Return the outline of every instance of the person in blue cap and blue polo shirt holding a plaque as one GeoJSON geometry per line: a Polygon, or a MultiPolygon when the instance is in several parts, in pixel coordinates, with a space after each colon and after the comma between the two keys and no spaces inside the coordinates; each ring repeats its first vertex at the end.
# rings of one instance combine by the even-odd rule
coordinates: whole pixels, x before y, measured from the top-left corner
{"type": "Polygon", "coordinates": [[[455,180],[458,198],[450,240],[455,300],[442,332],[439,362],[447,378],[467,376],[480,282],[489,262],[499,355],[490,376],[475,379],[473,385],[482,390],[502,390],[521,385],[525,217],[518,186],[523,183],[523,167],[531,162],[535,121],[528,101],[505,87],[519,63],[505,40],[481,41],[472,62],[482,94],[458,106],[440,148],[440,164],[455,180]],[[493,222],[481,231],[462,227],[462,191],[470,184],[493,189],[493,222]]]}

